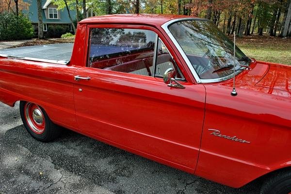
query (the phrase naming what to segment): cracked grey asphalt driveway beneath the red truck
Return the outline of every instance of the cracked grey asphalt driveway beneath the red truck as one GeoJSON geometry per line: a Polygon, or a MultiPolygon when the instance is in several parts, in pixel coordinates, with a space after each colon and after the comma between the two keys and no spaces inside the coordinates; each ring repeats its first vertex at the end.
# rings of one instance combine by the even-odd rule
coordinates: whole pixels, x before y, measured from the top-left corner
{"type": "Polygon", "coordinates": [[[25,130],[19,104],[0,103],[0,194],[258,194],[233,189],[63,130],[53,142],[25,130]]]}

